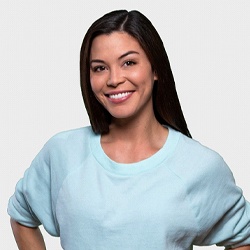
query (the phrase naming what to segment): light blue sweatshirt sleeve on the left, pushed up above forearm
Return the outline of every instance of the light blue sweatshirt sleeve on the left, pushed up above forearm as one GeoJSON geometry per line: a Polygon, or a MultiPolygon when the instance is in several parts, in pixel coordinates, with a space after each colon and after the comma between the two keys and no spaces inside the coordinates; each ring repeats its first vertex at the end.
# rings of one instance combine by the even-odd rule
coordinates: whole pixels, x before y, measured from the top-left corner
{"type": "Polygon", "coordinates": [[[8,214],[22,225],[37,227],[59,236],[53,209],[49,147],[45,145],[25,171],[9,199],[8,214]]]}

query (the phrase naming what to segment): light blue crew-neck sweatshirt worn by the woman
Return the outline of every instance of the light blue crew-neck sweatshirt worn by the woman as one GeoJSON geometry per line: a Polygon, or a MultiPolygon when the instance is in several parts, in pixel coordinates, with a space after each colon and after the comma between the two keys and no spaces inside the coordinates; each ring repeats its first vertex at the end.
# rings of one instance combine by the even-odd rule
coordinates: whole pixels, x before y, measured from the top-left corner
{"type": "Polygon", "coordinates": [[[146,160],[120,164],[91,127],[52,137],[10,198],[65,250],[173,250],[250,244],[250,204],[216,152],[169,128],[146,160]]]}

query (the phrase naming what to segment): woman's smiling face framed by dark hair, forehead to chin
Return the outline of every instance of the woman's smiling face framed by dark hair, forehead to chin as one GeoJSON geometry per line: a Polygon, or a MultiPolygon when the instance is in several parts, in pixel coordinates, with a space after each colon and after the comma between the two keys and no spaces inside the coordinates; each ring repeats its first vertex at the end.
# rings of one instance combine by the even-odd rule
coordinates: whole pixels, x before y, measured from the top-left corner
{"type": "Polygon", "coordinates": [[[125,32],[97,36],[90,51],[90,83],[112,117],[153,114],[154,74],[138,41],[125,32]]]}

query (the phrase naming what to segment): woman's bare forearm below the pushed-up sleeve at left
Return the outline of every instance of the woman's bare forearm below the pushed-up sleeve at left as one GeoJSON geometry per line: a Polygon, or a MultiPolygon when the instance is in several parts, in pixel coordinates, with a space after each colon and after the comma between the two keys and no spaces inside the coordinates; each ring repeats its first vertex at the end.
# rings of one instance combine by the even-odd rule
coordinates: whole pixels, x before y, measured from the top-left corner
{"type": "Polygon", "coordinates": [[[38,227],[26,227],[11,219],[12,231],[19,250],[45,250],[43,236],[38,227]]]}

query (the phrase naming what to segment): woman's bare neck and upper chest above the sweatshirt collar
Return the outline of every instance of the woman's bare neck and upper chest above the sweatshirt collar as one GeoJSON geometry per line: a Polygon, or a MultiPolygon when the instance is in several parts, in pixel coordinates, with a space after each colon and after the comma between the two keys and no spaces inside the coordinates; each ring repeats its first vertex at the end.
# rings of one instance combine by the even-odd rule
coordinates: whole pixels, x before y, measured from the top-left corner
{"type": "Polygon", "coordinates": [[[101,138],[104,152],[114,161],[132,163],[144,160],[160,150],[168,135],[153,116],[139,121],[113,122],[101,138]]]}

